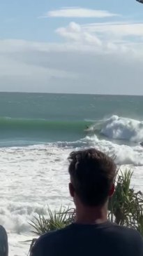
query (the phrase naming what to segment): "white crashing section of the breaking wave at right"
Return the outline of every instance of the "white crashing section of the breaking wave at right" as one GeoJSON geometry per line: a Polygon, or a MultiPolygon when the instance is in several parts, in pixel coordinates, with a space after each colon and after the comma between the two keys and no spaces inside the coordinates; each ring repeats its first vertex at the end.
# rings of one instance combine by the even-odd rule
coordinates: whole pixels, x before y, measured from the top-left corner
{"type": "Polygon", "coordinates": [[[100,125],[100,134],[114,140],[143,141],[143,121],[111,116],[100,125]]]}

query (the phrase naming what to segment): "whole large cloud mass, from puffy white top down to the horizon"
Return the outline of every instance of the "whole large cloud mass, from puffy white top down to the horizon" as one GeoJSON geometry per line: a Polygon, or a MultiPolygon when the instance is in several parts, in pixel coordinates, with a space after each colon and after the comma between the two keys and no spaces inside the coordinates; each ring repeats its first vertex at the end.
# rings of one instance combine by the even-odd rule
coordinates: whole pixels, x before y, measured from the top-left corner
{"type": "Polygon", "coordinates": [[[63,43],[1,40],[0,90],[143,95],[141,27],[70,22],[63,43]]]}

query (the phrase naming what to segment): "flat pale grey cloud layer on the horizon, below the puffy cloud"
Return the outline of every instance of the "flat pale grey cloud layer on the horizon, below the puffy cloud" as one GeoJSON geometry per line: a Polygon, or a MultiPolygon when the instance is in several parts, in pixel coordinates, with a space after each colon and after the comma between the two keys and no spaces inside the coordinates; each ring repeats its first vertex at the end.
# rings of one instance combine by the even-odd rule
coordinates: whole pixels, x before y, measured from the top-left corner
{"type": "Polygon", "coordinates": [[[143,94],[143,58],[112,43],[108,52],[95,46],[73,40],[54,45],[0,41],[0,90],[143,94]]]}

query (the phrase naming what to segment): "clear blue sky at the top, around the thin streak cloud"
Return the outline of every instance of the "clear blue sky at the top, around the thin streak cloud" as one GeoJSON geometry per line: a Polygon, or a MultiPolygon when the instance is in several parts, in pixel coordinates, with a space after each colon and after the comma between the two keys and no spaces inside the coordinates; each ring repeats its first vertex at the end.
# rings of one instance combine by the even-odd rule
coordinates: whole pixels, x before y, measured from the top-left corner
{"type": "MultiPolygon", "coordinates": [[[[67,25],[73,18],[45,18],[38,19],[48,11],[62,7],[80,6],[82,8],[107,10],[111,13],[123,15],[123,20],[142,20],[143,6],[135,0],[100,0],[83,1],[49,0],[5,0],[1,1],[0,34],[1,39],[24,39],[32,41],[58,41],[54,29],[67,25]]],[[[121,19],[121,20],[122,20],[121,19]]],[[[75,18],[75,22],[100,22],[96,18],[75,18]]],[[[119,18],[104,18],[102,22],[119,20],[119,18]]]]}

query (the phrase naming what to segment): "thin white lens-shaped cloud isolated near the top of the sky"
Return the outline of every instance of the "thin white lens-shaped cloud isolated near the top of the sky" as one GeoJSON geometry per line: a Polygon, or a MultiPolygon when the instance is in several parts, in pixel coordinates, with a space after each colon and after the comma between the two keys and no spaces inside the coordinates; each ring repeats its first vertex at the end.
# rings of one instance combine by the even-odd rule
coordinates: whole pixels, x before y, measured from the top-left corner
{"type": "Polygon", "coordinates": [[[93,10],[80,7],[61,8],[59,10],[49,11],[45,17],[53,18],[108,18],[116,16],[114,13],[102,10],[93,10]]]}

